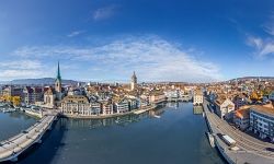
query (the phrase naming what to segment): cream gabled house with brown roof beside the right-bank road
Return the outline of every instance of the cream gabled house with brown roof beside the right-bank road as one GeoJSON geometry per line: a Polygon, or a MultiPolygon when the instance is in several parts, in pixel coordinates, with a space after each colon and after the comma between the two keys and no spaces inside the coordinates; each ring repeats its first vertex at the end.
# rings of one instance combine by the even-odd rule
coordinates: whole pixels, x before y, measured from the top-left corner
{"type": "Polygon", "coordinates": [[[222,119],[233,117],[235,104],[229,98],[218,97],[215,101],[215,112],[222,119]]]}

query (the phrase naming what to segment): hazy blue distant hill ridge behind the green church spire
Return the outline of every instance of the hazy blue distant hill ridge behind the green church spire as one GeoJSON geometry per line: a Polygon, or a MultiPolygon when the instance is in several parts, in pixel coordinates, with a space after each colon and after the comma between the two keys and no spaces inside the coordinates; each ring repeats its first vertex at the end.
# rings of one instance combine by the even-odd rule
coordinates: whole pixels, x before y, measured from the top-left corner
{"type": "MultiPolygon", "coordinates": [[[[24,85],[24,84],[34,84],[34,85],[42,85],[42,84],[54,84],[54,78],[42,78],[42,79],[16,79],[12,81],[1,81],[1,84],[15,84],[15,85],[24,85]]],[[[77,84],[78,81],[73,80],[62,80],[64,84],[77,84]]]]}

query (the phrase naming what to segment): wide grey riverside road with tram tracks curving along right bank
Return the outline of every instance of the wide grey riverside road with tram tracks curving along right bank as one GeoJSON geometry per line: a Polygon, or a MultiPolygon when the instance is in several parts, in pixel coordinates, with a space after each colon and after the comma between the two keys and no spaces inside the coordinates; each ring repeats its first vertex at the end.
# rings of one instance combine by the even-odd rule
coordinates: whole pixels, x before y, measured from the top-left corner
{"type": "Polygon", "coordinates": [[[274,164],[274,144],[261,141],[253,138],[236,128],[232,128],[228,122],[220,119],[213,110],[210,110],[209,103],[204,101],[204,112],[209,130],[215,138],[215,144],[227,160],[232,164],[274,164]],[[230,148],[217,136],[217,133],[228,134],[236,140],[236,145],[240,149],[238,151],[230,150],[230,148]]]}

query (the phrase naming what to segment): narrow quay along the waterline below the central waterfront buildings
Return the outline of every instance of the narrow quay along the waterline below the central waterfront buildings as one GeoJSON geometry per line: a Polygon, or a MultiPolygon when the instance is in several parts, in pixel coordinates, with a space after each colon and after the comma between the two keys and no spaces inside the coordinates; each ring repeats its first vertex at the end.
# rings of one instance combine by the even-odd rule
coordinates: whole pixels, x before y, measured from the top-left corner
{"type": "Polygon", "coordinates": [[[127,113],[112,114],[112,115],[98,115],[98,116],[96,115],[91,115],[91,116],[68,115],[68,114],[59,113],[59,116],[66,117],[66,118],[75,118],[75,119],[104,119],[104,118],[113,118],[113,117],[119,117],[119,116],[126,116],[126,115],[140,115],[142,113],[146,113],[155,108],[157,108],[157,106],[148,106],[146,108],[138,108],[138,109],[134,109],[127,113]]]}

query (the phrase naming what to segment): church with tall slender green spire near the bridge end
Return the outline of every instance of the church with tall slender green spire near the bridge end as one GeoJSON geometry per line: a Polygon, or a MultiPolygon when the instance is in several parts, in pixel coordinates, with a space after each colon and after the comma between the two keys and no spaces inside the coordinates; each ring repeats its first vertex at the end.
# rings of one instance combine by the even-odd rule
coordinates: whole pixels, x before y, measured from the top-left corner
{"type": "Polygon", "coordinates": [[[44,104],[47,108],[55,108],[60,105],[60,101],[62,98],[62,90],[61,90],[61,74],[60,74],[60,66],[58,61],[57,68],[57,77],[55,80],[55,86],[49,86],[47,91],[44,93],[44,104]]]}

